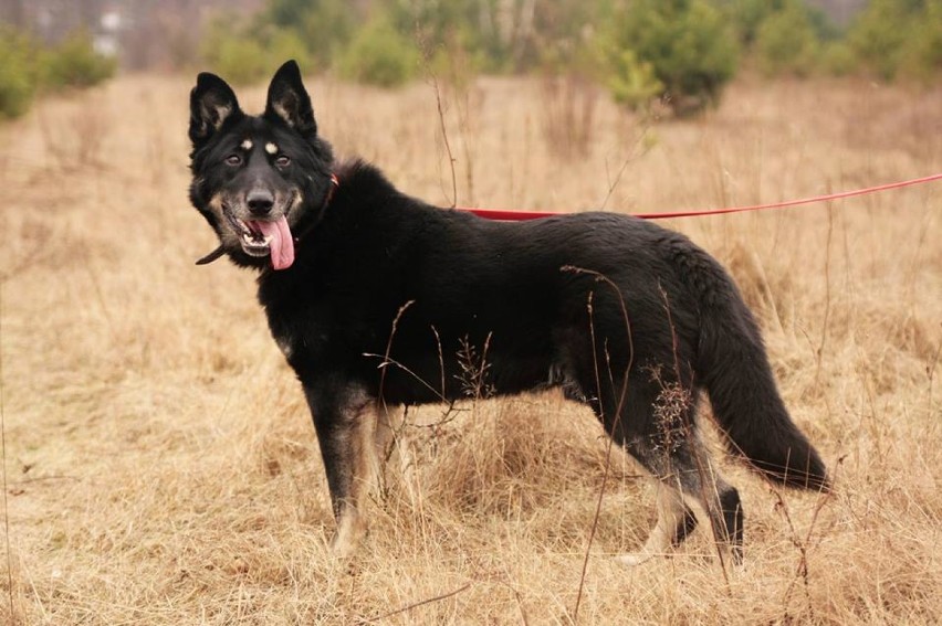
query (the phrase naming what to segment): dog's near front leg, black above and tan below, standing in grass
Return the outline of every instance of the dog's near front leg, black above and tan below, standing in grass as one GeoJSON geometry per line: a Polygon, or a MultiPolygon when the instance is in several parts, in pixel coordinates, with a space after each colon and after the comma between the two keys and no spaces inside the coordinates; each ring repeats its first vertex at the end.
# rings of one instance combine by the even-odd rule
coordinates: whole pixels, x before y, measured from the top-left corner
{"type": "Polygon", "coordinates": [[[337,530],[334,555],[350,556],[366,532],[364,506],[375,473],[376,401],[362,391],[305,385],[337,530]]]}

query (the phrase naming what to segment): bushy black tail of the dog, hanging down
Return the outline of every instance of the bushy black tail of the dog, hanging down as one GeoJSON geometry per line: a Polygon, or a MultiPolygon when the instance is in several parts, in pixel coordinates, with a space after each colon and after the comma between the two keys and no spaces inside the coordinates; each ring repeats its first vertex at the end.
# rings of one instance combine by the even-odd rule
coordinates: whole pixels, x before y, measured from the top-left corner
{"type": "Polygon", "coordinates": [[[733,279],[699,248],[676,254],[674,263],[700,303],[695,370],[731,452],[772,482],[829,489],[820,456],[778,395],[758,326],[733,279]]]}

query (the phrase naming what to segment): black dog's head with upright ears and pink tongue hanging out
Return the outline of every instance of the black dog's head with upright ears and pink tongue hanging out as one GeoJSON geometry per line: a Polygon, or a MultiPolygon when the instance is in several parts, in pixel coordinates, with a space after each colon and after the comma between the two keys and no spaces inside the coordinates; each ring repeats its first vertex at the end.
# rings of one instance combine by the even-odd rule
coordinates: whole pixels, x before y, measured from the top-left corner
{"type": "Polygon", "coordinates": [[[265,112],[245,115],[232,88],[201,73],[190,93],[190,201],[219,236],[208,263],[284,269],[294,234],[320,219],[331,190],[333,155],[317,136],[311,97],[289,61],[269,85],[265,112]]]}

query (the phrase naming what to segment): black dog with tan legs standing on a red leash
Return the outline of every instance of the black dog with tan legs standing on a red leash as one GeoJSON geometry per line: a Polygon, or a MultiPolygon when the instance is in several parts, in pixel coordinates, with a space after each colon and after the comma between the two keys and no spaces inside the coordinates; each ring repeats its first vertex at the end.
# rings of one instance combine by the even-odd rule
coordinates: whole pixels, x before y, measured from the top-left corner
{"type": "Polygon", "coordinates": [[[625,215],[501,223],[409,198],[368,165],[334,161],[294,62],[262,115],[206,73],[190,115],[190,199],[220,240],[200,263],[228,254],[260,272],[259,300],[314,417],[337,553],[365,529],[379,407],[469,393],[562,386],[657,477],[657,526],[627,563],[682,541],[697,523],[690,503],[741,558],[739,495],[694,427],[701,390],[753,469],[828,488],[753,316],[687,237],[625,215]],[[474,389],[469,356],[480,359],[474,389]]]}

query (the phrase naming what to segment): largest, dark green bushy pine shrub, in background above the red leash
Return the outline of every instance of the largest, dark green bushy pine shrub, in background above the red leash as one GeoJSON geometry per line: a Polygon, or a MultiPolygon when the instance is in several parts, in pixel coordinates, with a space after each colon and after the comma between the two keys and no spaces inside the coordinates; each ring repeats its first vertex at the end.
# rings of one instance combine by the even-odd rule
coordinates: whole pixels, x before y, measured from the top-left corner
{"type": "MultiPolygon", "coordinates": [[[[678,115],[716,104],[735,73],[735,38],[705,0],[636,0],[613,23],[616,50],[630,50],[638,63],[650,64],[663,85],[660,95],[678,115]]],[[[626,71],[618,57],[613,67],[626,71]]],[[[619,78],[630,82],[616,76],[616,83],[619,78]]]]}

